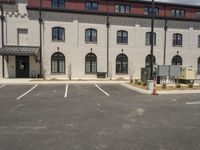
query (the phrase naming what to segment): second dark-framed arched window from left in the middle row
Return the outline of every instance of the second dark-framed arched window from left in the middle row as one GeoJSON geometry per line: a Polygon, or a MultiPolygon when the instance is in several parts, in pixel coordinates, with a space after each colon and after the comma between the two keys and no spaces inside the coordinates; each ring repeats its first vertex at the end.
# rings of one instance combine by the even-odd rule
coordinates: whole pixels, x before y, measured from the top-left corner
{"type": "Polygon", "coordinates": [[[85,30],[85,42],[86,43],[97,43],[97,30],[86,29],[85,30]]]}

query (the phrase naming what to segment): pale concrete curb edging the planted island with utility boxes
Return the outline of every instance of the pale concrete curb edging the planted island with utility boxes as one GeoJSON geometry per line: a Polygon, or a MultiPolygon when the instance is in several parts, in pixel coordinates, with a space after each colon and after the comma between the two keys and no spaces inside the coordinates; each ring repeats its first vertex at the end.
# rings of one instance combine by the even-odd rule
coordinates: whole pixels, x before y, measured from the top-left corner
{"type": "MultiPolygon", "coordinates": [[[[141,89],[141,88],[138,88],[138,87],[134,87],[134,86],[131,86],[129,84],[126,84],[126,83],[122,83],[121,85],[129,88],[129,89],[132,89],[132,90],[135,90],[137,92],[140,92],[140,93],[143,93],[143,94],[149,94],[151,95],[153,93],[153,91],[149,91],[149,90],[144,90],[144,89],[141,89]]],[[[200,94],[200,90],[171,90],[171,91],[157,91],[156,92],[158,95],[167,95],[167,94],[200,94]]]]}

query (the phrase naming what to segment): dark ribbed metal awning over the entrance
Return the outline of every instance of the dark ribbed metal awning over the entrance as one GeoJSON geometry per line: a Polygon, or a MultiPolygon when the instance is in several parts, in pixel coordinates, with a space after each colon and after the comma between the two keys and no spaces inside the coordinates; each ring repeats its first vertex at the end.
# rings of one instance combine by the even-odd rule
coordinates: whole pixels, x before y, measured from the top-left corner
{"type": "Polygon", "coordinates": [[[3,46],[0,48],[2,56],[35,56],[39,55],[39,47],[36,46],[3,46]]]}

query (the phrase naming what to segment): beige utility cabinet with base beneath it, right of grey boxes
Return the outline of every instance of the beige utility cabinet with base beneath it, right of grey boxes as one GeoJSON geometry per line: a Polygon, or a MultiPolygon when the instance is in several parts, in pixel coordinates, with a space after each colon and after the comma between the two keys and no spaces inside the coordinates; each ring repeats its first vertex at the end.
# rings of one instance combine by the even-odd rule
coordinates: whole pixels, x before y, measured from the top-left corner
{"type": "Polygon", "coordinates": [[[193,67],[181,67],[180,82],[193,83],[196,79],[196,70],[193,67]]]}

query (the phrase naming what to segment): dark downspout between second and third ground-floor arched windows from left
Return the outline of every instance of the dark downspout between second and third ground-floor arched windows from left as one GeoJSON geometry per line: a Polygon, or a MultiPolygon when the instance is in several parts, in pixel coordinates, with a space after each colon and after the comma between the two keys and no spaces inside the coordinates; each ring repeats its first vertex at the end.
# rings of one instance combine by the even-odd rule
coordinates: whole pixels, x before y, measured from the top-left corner
{"type": "Polygon", "coordinates": [[[109,0],[106,1],[107,3],[107,20],[106,20],[106,28],[107,28],[107,78],[109,77],[109,28],[110,28],[110,21],[109,21],[109,0]]]}

